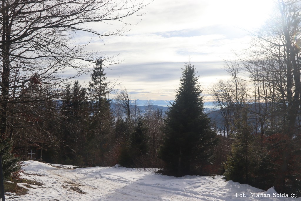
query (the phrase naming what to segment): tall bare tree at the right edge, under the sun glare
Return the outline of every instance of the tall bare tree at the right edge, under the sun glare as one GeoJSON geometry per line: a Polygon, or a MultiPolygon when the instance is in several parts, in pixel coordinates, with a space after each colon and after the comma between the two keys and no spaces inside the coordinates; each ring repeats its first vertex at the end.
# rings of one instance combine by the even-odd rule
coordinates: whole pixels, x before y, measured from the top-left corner
{"type": "MultiPolygon", "coordinates": [[[[285,192],[290,149],[294,136],[300,135],[296,126],[300,115],[300,44],[301,44],[301,2],[299,0],[279,0],[273,17],[257,34],[256,52],[253,58],[266,61],[260,76],[268,84],[272,101],[278,103],[278,115],[282,117],[281,134],[288,137],[283,149],[281,165],[277,172],[274,186],[278,192],[285,192]],[[272,62],[268,62],[271,61],[272,62]],[[268,72],[268,73],[267,73],[268,72]]],[[[256,60],[256,59],[254,59],[256,60]]],[[[274,111],[273,111],[274,112],[274,111]]],[[[291,180],[293,181],[293,180],[291,180]]]]}

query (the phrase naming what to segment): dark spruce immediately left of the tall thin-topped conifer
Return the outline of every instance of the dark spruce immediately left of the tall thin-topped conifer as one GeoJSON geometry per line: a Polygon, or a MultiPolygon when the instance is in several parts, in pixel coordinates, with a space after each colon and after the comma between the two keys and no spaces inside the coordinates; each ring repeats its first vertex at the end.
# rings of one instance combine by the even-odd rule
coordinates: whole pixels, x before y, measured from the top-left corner
{"type": "Polygon", "coordinates": [[[83,165],[87,121],[90,118],[85,88],[74,81],[72,89],[67,85],[64,97],[66,99],[63,100],[61,109],[67,118],[62,118],[61,124],[62,160],[65,164],[83,165]]]}

